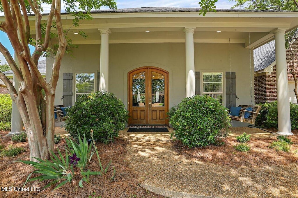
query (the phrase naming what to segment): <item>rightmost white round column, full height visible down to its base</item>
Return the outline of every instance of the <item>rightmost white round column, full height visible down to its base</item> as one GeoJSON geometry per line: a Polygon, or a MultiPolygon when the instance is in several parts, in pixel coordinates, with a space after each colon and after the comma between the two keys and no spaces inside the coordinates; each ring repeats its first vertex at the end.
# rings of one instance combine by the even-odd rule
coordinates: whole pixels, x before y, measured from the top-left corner
{"type": "Polygon", "coordinates": [[[278,114],[278,132],[276,134],[293,135],[293,133],[291,133],[288,72],[285,55],[285,30],[278,29],[274,34],[278,114]]]}

